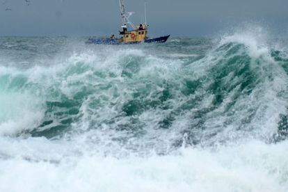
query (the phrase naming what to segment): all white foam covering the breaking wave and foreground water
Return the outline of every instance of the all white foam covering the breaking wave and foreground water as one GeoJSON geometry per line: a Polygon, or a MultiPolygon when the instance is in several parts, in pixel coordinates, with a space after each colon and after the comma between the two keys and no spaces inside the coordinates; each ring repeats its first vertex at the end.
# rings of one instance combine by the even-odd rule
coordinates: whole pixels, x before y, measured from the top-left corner
{"type": "MultiPolygon", "coordinates": [[[[229,111],[232,115],[225,109],[239,87],[207,113],[205,129],[192,133],[199,140],[207,138],[202,147],[177,148],[179,142],[187,144],[184,131],[199,122],[193,119],[195,112],[213,105],[215,95],[207,89],[214,79],[207,71],[223,59],[220,52],[212,50],[200,61],[182,66],[180,59],[151,56],[133,47],[97,47],[75,52],[49,67],[1,67],[0,75],[24,75],[29,91],[20,88],[0,94],[0,191],[288,191],[288,142],[266,144],[262,139],[271,138],[280,113],[287,113],[287,101],[278,95],[287,89],[287,74],[273,66],[269,50],[253,33],[234,34],[220,45],[227,42],[245,45],[251,58],[264,63],[259,70],[251,67],[259,83],[250,95],[237,99],[229,111]],[[122,77],[134,58],[143,61],[138,63],[137,75],[122,77]],[[102,72],[104,78],[95,72],[102,72]],[[181,92],[184,80],[200,78],[204,82],[195,93],[181,92]],[[163,101],[168,109],[152,106],[139,115],[125,116],[122,107],[134,99],[136,90],[147,91],[141,99],[151,102],[161,96],[166,84],[173,87],[173,98],[163,101]],[[72,99],[82,86],[93,93],[83,98],[78,121],[67,136],[59,141],[3,137],[39,125],[45,102],[61,102],[60,96],[49,95],[50,90],[72,99]],[[193,109],[175,113],[170,129],[159,126],[171,111],[197,97],[202,100],[193,109]],[[239,131],[250,109],[255,110],[255,117],[239,131]],[[137,129],[125,129],[131,122],[137,129]],[[217,143],[223,140],[227,143],[217,143]]],[[[242,80],[233,77],[231,73],[223,81],[242,80]]]]}

